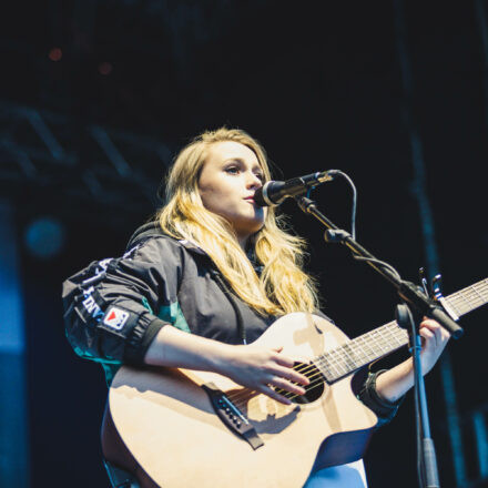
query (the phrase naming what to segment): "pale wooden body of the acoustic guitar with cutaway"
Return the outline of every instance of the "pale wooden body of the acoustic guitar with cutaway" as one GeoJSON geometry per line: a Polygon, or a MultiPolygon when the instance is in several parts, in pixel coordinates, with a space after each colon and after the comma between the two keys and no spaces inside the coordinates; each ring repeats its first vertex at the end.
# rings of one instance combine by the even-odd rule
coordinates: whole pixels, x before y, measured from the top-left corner
{"type": "MultiPolygon", "coordinates": [[[[254,344],[309,359],[348,342],[328,321],[294,313],[254,344]]],[[[279,404],[231,379],[177,368],[122,367],[109,393],[115,428],[142,469],[164,488],[199,486],[298,488],[312,469],[363,457],[375,414],[352,392],[350,377],[322,384],[307,404],[279,404]],[[264,443],[232,433],[201,387],[213,383],[235,400],[264,443]]]]}

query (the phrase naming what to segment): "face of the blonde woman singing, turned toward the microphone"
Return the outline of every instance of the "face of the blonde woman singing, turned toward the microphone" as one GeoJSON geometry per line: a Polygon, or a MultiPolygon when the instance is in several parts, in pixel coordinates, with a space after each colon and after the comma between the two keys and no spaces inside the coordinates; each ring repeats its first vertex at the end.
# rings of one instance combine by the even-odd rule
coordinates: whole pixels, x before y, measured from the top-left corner
{"type": "Polygon", "coordinates": [[[266,211],[253,200],[263,177],[256,154],[247,146],[234,141],[210,145],[200,173],[200,195],[205,209],[233,225],[243,247],[264,224],[266,211]]]}

